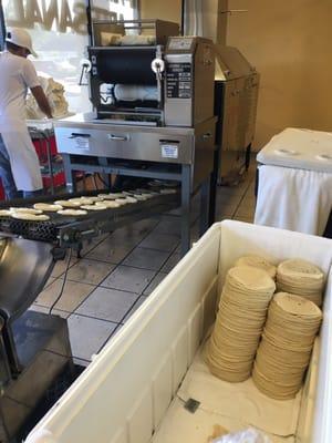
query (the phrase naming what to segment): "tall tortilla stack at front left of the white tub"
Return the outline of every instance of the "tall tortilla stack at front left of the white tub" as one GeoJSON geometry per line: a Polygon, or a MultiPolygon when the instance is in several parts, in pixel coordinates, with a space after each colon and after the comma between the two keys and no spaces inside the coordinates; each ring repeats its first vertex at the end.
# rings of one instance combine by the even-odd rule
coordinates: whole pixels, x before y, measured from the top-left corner
{"type": "Polygon", "coordinates": [[[229,382],[250,377],[274,290],[264,270],[242,266],[228,271],[206,354],[215,375],[229,382]]]}

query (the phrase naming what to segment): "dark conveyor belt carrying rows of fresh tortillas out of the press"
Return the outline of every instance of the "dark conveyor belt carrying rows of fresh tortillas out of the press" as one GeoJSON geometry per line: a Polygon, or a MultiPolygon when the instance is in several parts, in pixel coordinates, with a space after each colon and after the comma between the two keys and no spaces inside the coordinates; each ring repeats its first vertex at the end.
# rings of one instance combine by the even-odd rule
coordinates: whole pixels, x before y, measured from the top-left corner
{"type": "MultiPolygon", "coordinates": [[[[69,199],[83,195],[86,197],[96,196],[101,193],[102,190],[56,195],[56,198],[46,196],[33,199],[18,199],[1,203],[0,209],[33,207],[34,203],[51,203],[54,199],[69,199]]],[[[60,247],[72,247],[83,239],[100,236],[125,224],[162,214],[177,206],[179,206],[179,194],[158,194],[147,200],[139,200],[118,208],[89,210],[87,215],[83,216],[63,216],[56,213],[45,213],[50,217],[48,222],[28,222],[12,217],[0,217],[0,231],[31,240],[52,243],[60,247]]]]}

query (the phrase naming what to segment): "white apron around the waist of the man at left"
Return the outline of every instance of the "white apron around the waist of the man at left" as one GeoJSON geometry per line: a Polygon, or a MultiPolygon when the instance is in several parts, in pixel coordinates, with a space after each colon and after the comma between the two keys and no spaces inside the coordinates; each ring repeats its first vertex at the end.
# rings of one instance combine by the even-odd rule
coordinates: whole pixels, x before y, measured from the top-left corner
{"type": "Polygon", "coordinates": [[[28,127],[17,125],[15,131],[14,128],[1,131],[1,136],[18,190],[41,189],[43,183],[40,164],[28,127]]]}

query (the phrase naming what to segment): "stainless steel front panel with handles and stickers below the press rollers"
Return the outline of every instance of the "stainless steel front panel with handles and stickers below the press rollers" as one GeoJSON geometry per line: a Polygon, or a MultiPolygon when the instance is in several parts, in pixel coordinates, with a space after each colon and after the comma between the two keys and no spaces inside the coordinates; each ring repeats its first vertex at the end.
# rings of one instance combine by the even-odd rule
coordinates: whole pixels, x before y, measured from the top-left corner
{"type": "Polygon", "coordinates": [[[58,122],[60,153],[177,164],[194,162],[193,128],[58,122]]]}

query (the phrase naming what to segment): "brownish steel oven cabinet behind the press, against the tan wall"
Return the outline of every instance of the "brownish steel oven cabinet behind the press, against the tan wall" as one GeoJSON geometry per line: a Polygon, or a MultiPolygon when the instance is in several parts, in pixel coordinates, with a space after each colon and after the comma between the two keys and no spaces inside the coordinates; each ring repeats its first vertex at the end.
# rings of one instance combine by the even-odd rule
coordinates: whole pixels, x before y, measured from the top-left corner
{"type": "Polygon", "coordinates": [[[231,47],[217,45],[219,183],[237,181],[248,167],[255,136],[259,74],[231,47]]]}

